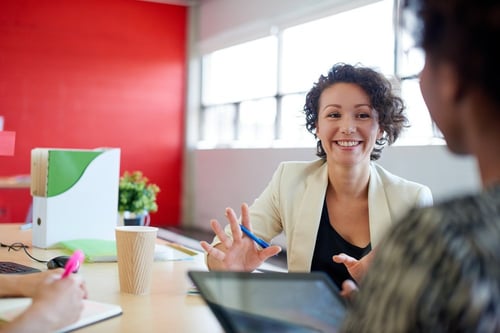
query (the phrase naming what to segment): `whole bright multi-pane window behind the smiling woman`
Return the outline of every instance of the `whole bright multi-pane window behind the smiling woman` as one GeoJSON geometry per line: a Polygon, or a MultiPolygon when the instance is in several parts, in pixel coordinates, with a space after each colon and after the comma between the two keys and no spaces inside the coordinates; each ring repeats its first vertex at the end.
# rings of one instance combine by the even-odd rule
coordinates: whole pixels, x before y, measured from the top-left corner
{"type": "Polygon", "coordinates": [[[314,147],[305,94],[337,62],[407,76],[395,81],[412,125],[401,142],[428,144],[435,131],[415,75],[423,58],[408,36],[396,43],[393,12],[393,0],[383,0],[205,55],[198,146],[314,147]]]}

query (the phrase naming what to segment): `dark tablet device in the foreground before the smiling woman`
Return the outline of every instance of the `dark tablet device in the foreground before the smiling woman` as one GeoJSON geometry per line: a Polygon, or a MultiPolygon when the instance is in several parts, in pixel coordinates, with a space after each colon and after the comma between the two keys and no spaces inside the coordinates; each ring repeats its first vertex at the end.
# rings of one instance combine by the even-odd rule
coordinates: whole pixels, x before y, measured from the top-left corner
{"type": "Polygon", "coordinates": [[[338,332],[346,312],[323,272],[188,275],[227,333],[338,332]]]}

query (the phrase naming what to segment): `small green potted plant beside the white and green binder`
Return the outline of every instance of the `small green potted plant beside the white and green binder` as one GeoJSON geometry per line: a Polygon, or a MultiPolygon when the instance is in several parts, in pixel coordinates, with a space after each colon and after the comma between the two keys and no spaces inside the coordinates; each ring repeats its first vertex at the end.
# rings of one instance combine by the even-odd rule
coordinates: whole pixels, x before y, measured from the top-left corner
{"type": "Polygon", "coordinates": [[[118,186],[118,212],[124,225],[149,225],[150,212],[156,212],[160,188],[141,171],[125,171],[118,186]]]}

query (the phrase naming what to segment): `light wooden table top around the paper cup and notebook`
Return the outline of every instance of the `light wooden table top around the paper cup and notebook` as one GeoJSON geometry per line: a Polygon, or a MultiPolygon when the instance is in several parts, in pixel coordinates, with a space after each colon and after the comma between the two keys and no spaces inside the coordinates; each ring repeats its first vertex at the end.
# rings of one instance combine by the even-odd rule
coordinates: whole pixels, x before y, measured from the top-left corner
{"type": "MultiPolygon", "coordinates": [[[[21,224],[0,225],[0,241],[31,245],[31,230],[20,230],[21,224]]],[[[158,240],[162,243],[162,240],[158,240]]],[[[35,258],[48,260],[63,252],[58,249],[30,248],[35,258]]],[[[24,251],[0,249],[0,261],[14,261],[41,270],[46,265],[30,259],[24,251]]],[[[192,286],[188,270],[205,270],[203,254],[187,261],[155,261],[151,293],[136,296],[120,292],[116,263],[85,263],[82,274],[89,299],[119,304],[123,315],[97,323],[78,332],[223,332],[217,319],[199,295],[188,295],[192,286]]]]}

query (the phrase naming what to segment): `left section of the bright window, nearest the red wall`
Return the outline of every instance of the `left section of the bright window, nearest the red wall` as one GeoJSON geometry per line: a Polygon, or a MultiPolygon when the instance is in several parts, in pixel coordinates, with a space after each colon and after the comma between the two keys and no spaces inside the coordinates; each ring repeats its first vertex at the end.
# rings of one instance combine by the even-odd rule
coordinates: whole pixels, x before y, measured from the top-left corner
{"type": "Polygon", "coordinates": [[[277,49],[270,36],[203,58],[201,147],[273,142],[277,49]]]}

